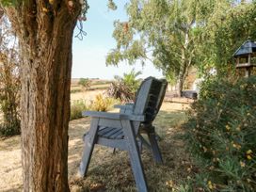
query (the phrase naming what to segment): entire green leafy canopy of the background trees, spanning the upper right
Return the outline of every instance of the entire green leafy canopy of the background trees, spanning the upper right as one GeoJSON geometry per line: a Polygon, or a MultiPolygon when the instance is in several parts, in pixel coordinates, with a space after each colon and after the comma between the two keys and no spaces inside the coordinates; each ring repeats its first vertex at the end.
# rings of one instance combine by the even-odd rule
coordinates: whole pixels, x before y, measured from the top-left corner
{"type": "Polygon", "coordinates": [[[114,24],[117,46],[106,64],[149,59],[180,89],[190,66],[226,72],[234,50],[255,38],[255,1],[131,0],[126,10],[128,21],[114,24]]]}

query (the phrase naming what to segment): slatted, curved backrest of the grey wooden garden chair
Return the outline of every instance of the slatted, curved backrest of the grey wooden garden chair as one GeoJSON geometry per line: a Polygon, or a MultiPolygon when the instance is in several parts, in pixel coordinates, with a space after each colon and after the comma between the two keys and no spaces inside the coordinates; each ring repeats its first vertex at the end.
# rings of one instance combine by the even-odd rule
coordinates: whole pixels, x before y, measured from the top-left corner
{"type": "Polygon", "coordinates": [[[145,115],[143,123],[151,123],[156,117],[165,97],[167,81],[158,80],[154,77],[146,78],[138,88],[134,114],[145,115]]]}

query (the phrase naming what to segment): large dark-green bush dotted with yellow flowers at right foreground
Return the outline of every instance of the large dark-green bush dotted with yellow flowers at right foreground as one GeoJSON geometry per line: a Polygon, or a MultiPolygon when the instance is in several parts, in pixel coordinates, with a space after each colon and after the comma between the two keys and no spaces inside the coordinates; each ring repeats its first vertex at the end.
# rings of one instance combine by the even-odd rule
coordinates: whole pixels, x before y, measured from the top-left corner
{"type": "Polygon", "coordinates": [[[192,105],[186,141],[205,190],[256,190],[256,77],[205,82],[192,105]]]}

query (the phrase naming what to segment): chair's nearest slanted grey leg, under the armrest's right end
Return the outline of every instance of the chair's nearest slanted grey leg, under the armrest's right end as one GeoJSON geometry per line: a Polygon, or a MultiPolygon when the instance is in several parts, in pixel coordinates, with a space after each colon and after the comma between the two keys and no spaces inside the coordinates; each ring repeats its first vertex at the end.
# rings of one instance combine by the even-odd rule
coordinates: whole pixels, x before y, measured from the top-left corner
{"type": "Polygon", "coordinates": [[[128,152],[131,159],[131,166],[136,180],[136,187],[139,192],[147,192],[148,184],[136,142],[136,135],[130,120],[121,120],[125,139],[127,140],[128,152]]]}

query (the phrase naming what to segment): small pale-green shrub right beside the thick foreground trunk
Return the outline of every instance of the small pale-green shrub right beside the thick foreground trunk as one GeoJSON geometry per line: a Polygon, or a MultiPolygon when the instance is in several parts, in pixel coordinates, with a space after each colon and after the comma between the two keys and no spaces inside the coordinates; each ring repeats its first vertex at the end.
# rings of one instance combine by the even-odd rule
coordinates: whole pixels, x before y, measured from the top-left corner
{"type": "Polygon", "coordinates": [[[88,110],[88,106],[86,101],[84,100],[76,100],[71,104],[71,120],[77,120],[83,118],[82,111],[88,110]]]}

